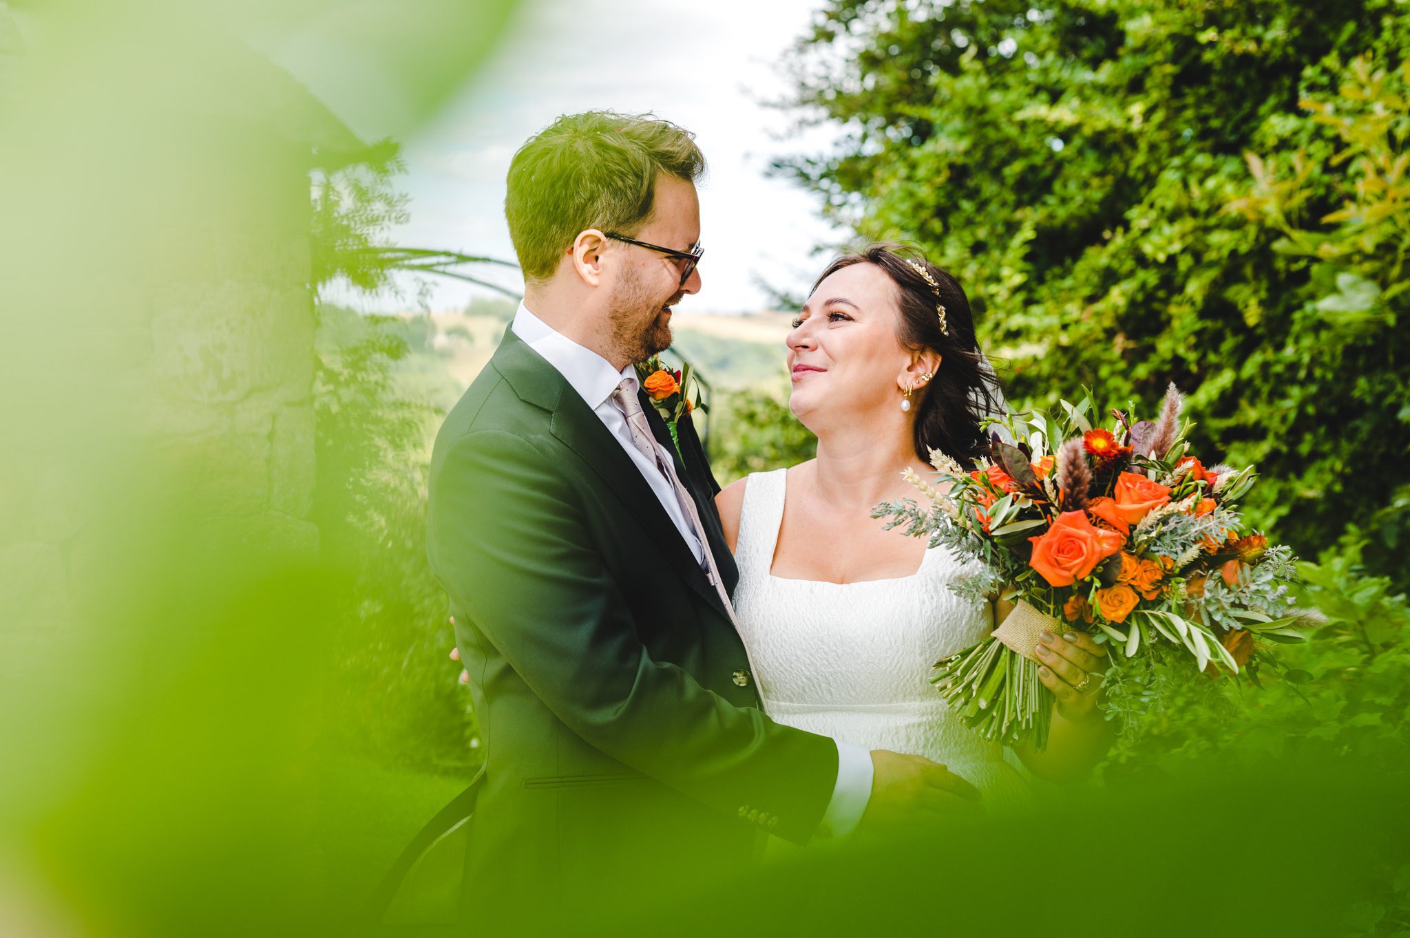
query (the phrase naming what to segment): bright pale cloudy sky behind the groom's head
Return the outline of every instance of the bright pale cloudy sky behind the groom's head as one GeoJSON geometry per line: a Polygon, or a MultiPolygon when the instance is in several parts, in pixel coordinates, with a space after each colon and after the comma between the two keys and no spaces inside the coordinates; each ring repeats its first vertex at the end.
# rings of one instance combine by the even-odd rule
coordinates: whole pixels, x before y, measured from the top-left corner
{"type": "MultiPolygon", "coordinates": [[[[702,290],[681,313],[768,307],[761,277],[801,294],[846,232],[819,215],[816,196],[767,176],[771,158],[821,152],[829,130],[792,134],[790,111],[767,107],[788,92],[778,66],[822,0],[619,0],[596,7],[527,0],[485,68],[427,125],[403,139],[409,224],[395,244],[513,259],[503,220],[505,173],[519,145],[560,114],[654,111],[697,134],[708,175],[699,187],[702,290]],[[816,254],[816,248],[826,248],[816,254]]],[[[354,124],[354,130],[358,130],[354,124]]],[[[516,270],[471,273],[522,287],[516,270]]],[[[464,308],[479,287],[431,277],[426,306],[464,308]]],[[[415,297],[337,297],[364,310],[415,306],[415,297]]]]}

